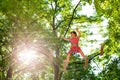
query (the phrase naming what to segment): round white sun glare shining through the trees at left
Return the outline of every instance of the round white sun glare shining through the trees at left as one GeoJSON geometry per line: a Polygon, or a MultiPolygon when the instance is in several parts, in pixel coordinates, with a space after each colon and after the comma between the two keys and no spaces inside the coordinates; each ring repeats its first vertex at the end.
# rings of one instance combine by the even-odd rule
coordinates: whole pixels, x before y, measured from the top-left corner
{"type": "Polygon", "coordinates": [[[24,64],[30,64],[37,59],[36,51],[25,48],[19,52],[18,59],[20,62],[23,62],[24,64]]]}

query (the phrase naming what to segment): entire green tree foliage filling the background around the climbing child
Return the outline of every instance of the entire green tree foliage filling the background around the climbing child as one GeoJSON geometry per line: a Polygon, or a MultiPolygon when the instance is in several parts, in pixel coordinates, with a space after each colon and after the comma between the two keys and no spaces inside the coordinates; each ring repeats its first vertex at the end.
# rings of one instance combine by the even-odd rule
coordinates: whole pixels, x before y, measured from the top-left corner
{"type": "MultiPolygon", "coordinates": [[[[71,31],[71,26],[77,24],[79,25],[77,27],[83,29],[88,28],[85,31],[81,31],[82,38],[85,38],[86,40],[87,35],[94,35],[89,32],[89,25],[93,23],[99,24],[103,21],[101,17],[104,16],[109,20],[109,25],[107,27],[108,33],[103,34],[104,37],[108,36],[108,39],[104,42],[105,48],[103,57],[101,59],[98,59],[97,57],[95,60],[102,65],[105,65],[105,69],[103,69],[99,75],[95,76],[91,65],[89,65],[87,69],[84,69],[83,64],[73,64],[68,67],[67,73],[61,75],[60,79],[120,79],[119,74],[117,73],[119,69],[116,67],[119,60],[113,60],[109,63],[113,54],[120,56],[119,0],[94,0],[94,2],[93,0],[81,0],[76,9],[75,6],[76,5],[72,4],[72,0],[0,0],[0,78],[5,79],[11,66],[10,64],[15,63],[12,67],[14,79],[24,78],[24,73],[27,72],[30,73],[26,78],[29,80],[53,79],[55,76],[53,70],[56,69],[55,66],[53,68],[53,65],[59,64],[59,71],[62,72],[62,62],[70,47],[67,45],[68,42],[63,41],[60,38],[66,36],[65,33],[71,31]],[[86,3],[95,5],[95,15],[90,17],[79,15],[82,6],[86,3]],[[84,23],[87,25],[84,25],[84,23]],[[43,49],[43,53],[45,52],[44,55],[48,55],[50,52],[48,48],[51,48],[52,51],[55,51],[55,55],[57,55],[57,57],[53,58],[54,64],[51,66],[49,64],[51,62],[49,62],[47,58],[45,58],[45,65],[41,65],[41,61],[38,60],[38,64],[36,65],[39,67],[30,69],[26,69],[28,67],[21,67],[19,64],[16,64],[17,59],[15,55],[17,55],[17,53],[14,52],[14,50],[17,48],[18,44],[22,43],[25,43],[30,47],[37,44],[37,47],[35,48],[39,51],[40,49],[43,49]],[[42,47],[41,44],[43,44],[42,47]],[[15,54],[13,55],[13,53],[15,54]],[[16,70],[17,72],[15,72],[16,70]],[[32,72],[34,71],[35,73],[33,74],[32,72]]],[[[95,40],[91,40],[90,42],[94,43],[95,40]]],[[[99,53],[99,49],[95,49],[92,53],[99,53]]],[[[93,54],[89,56],[91,57],[93,54]]],[[[71,57],[71,61],[84,62],[79,56],[71,57]]],[[[92,63],[90,62],[90,64],[92,63]]],[[[57,73],[60,75],[59,71],[57,73]]]]}

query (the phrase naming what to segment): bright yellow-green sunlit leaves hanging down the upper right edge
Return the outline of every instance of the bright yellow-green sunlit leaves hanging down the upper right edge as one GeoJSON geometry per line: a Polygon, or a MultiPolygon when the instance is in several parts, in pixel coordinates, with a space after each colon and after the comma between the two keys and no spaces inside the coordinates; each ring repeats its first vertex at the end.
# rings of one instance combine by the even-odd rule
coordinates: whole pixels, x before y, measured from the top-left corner
{"type": "MultiPolygon", "coordinates": [[[[120,46],[120,4],[119,0],[95,0],[94,1],[96,11],[99,15],[105,16],[109,19],[108,22],[108,40],[106,40],[104,54],[105,57],[102,58],[104,60],[107,60],[105,64],[108,64],[111,55],[115,54],[117,56],[119,55],[119,46],[120,46]]],[[[113,63],[114,64],[114,63],[113,63]]],[[[106,69],[107,70],[107,69],[106,69]]],[[[116,71],[116,70],[115,70],[116,71]]],[[[103,73],[105,74],[105,73],[103,73]]],[[[109,72],[108,72],[109,74],[109,72]]],[[[111,74],[111,73],[110,73],[111,74]]],[[[115,74],[116,75],[116,74],[115,74]]],[[[112,78],[114,79],[114,78],[112,78]]]]}

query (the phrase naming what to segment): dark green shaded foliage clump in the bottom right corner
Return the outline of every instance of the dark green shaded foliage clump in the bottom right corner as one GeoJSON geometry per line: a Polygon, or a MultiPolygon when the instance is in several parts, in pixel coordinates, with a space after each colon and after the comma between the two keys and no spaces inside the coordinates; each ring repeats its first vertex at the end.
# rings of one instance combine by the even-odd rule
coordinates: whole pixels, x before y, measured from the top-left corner
{"type": "Polygon", "coordinates": [[[120,79],[119,67],[120,67],[119,58],[115,58],[100,73],[101,79],[119,80],[120,79]]]}

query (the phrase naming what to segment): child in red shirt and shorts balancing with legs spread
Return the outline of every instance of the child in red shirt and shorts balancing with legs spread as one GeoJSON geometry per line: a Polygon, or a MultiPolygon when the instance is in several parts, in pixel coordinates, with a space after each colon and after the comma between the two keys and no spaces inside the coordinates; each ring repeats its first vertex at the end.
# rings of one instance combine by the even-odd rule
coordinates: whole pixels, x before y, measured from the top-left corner
{"type": "MultiPolygon", "coordinates": [[[[65,36],[65,35],[64,35],[64,36],[65,36]]],[[[67,54],[66,60],[65,60],[64,63],[63,63],[64,72],[66,72],[66,67],[68,66],[70,56],[71,56],[72,54],[75,54],[75,53],[80,53],[80,55],[82,55],[82,57],[85,58],[85,66],[88,65],[89,60],[88,60],[88,58],[84,55],[83,51],[80,49],[80,47],[79,47],[79,45],[78,45],[78,42],[79,42],[79,38],[80,38],[80,37],[81,37],[80,32],[79,32],[78,28],[76,28],[76,31],[71,32],[71,38],[70,38],[70,39],[67,39],[67,38],[64,39],[64,40],[66,40],[66,41],[70,41],[70,43],[71,43],[71,48],[70,48],[70,50],[69,50],[69,52],[68,52],[68,54],[67,54]],[[76,33],[76,32],[77,32],[77,33],[76,33]],[[77,34],[78,34],[78,36],[77,36],[77,34]],[[75,47],[74,44],[76,44],[76,47],[75,47]]],[[[101,49],[101,51],[102,51],[102,50],[103,50],[103,48],[101,49]]],[[[103,54],[103,53],[101,53],[101,55],[102,55],[102,54],[103,54]]],[[[72,62],[72,63],[74,63],[74,62],[72,62]]],[[[75,62],[75,63],[76,63],[76,62],[75,62]]],[[[87,67],[87,66],[86,66],[86,67],[87,67]]]]}

